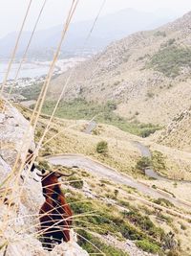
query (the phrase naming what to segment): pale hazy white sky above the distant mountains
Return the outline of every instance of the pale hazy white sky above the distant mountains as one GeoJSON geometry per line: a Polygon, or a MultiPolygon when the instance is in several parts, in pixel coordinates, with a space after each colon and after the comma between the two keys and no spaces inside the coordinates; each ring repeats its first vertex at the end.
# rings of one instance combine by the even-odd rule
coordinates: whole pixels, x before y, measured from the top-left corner
{"type": "MultiPolygon", "coordinates": [[[[18,31],[30,0],[0,0],[0,37],[18,31]]],[[[44,0],[32,0],[32,9],[25,30],[32,29],[36,15],[44,0]]],[[[38,29],[50,28],[61,24],[72,0],[47,0],[47,5],[38,29]]],[[[93,19],[103,0],[79,0],[74,21],[93,19]]],[[[152,12],[158,9],[170,9],[176,14],[191,11],[191,0],[106,0],[101,15],[134,8],[152,12]]],[[[167,12],[168,13],[168,12],[167,12]]]]}

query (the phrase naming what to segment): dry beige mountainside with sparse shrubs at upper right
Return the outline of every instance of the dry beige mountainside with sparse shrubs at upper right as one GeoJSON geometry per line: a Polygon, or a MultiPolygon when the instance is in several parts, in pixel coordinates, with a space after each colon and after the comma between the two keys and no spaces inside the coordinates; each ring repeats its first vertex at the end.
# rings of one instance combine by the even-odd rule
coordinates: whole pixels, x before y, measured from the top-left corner
{"type": "MultiPolygon", "coordinates": [[[[157,30],[110,44],[79,66],[64,99],[116,102],[116,113],[141,123],[166,125],[191,100],[191,12],[157,30]],[[183,101],[182,101],[183,99],[183,101]]],[[[71,71],[54,79],[54,101],[71,71]]]]}

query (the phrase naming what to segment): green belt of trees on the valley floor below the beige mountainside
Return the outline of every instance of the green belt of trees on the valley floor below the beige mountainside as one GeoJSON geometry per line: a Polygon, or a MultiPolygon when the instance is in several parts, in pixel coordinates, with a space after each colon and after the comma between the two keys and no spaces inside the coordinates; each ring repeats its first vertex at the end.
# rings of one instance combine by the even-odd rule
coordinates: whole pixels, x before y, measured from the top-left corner
{"type": "MultiPolygon", "coordinates": [[[[51,114],[54,105],[54,101],[47,101],[43,106],[43,112],[45,114],[51,114]]],[[[116,108],[117,105],[113,102],[108,102],[106,105],[98,105],[95,102],[86,102],[83,99],[75,99],[71,102],[61,102],[55,115],[60,118],[73,120],[91,120],[93,117],[96,117],[96,122],[113,125],[123,131],[141,137],[148,137],[150,134],[160,129],[159,126],[152,124],[141,124],[138,121],[129,122],[114,112],[116,108]]]]}

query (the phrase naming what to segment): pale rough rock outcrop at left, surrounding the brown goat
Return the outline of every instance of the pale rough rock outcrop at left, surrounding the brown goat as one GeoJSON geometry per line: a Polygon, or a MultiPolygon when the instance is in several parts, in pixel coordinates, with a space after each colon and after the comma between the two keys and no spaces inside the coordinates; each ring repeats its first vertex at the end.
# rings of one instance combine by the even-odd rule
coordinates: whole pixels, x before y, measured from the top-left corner
{"type": "Polygon", "coordinates": [[[11,174],[11,167],[22,147],[23,138],[27,144],[21,151],[21,159],[24,157],[25,147],[34,147],[32,128],[14,107],[6,105],[4,113],[0,114],[0,200],[6,189],[9,189],[0,207],[0,244],[4,244],[0,255],[4,255],[6,251],[7,256],[87,256],[88,253],[76,243],[74,233],[69,243],[56,245],[52,252],[43,249],[37,239],[37,232],[38,213],[44,198],[41,182],[35,173],[25,170],[24,180],[15,174],[11,176],[10,183],[3,183],[11,174]],[[28,133],[25,137],[26,130],[28,133]]]}

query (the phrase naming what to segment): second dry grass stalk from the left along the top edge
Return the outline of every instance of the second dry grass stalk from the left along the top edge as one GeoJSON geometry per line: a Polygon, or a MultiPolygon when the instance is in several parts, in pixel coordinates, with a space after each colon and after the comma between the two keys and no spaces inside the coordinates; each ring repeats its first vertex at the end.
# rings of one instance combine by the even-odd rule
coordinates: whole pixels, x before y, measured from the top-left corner
{"type": "Polygon", "coordinates": [[[34,33],[35,33],[36,27],[37,27],[37,25],[38,25],[38,22],[39,22],[39,20],[40,20],[41,14],[42,14],[42,12],[43,12],[43,10],[44,10],[44,8],[45,8],[46,3],[47,3],[47,0],[44,0],[44,3],[43,3],[43,5],[42,5],[42,8],[41,8],[41,10],[40,10],[40,12],[39,12],[39,14],[38,14],[38,17],[37,17],[37,19],[36,19],[36,22],[35,22],[35,24],[34,24],[34,27],[33,27],[33,30],[32,30],[32,35],[31,35],[31,37],[30,37],[30,39],[29,39],[29,42],[28,42],[28,45],[27,45],[27,47],[26,47],[25,53],[24,53],[24,55],[23,55],[23,58],[22,58],[21,61],[20,61],[19,67],[18,67],[17,72],[16,72],[16,75],[15,75],[15,77],[14,77],[14,81],[13,81],[12,84],[11,84],[11,89],[10,89],[10,92],[9,92],[9,95],[8,95],[8,100],[10,99],[13,86],[14,86],[14,84],[15,84],[17,78],[18,78],[18,75],[19,75],[19,72],[20,72],[20,70],[21,70],[22,64],[23,64],[23,62],[25,61],[25,58],[26,58],[27,53],[28,53],[28,51],[29,51],[29,48],[30,48],[30,46],[31,46],[32,37],[33,37],[33,35],[34,35],[34,33]]]}

